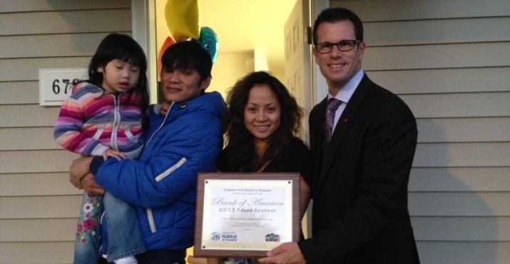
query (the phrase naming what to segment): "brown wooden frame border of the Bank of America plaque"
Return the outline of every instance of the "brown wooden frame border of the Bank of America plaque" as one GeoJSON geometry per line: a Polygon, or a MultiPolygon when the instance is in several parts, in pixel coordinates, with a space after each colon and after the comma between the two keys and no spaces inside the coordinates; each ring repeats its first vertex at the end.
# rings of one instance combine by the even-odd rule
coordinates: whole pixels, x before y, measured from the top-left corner
{"type": "MultiPolygon", "coordinates": [[[[300,174],[299,173],[198,173],[197,187],[197,207],[195,215],[195,248],[193,255],[195,257],[260,257],[265,256],[267,250],[235,250],[228,249],[207,249],[203,247],[203,224],[204,224],[204,200],[205,184],[208,180],[228,180],[231,181],[287,181],[292,185],[292,223],[285,223],[292,228],[292,242],[297,242],[300,238],[300,174]]],[[[286,196],[285,196],[286,197],[286,196]]],[[[285,198],[283,197],[283,198],[285,198]]],[[[285,205],[289,206],[289,205],[285,205]]],[[[211,219],[205,219],[210,221],[211,219]]],[[[218,220],[218,219],[215,219],[218,220]]],[[[291,241],[280,241],[281,243],[291,241]]]]}

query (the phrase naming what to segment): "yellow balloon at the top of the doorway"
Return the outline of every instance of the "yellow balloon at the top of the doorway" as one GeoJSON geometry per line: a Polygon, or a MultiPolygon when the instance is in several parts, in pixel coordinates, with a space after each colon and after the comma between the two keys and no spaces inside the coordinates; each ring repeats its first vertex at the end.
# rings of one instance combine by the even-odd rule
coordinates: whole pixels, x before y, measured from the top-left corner
{"type": "Polygon", "coordinates": [[[200,23],[198,0],[168,0],[165,6],[165,19],[175,42],[189,38],[198,39],[200,23]]]}

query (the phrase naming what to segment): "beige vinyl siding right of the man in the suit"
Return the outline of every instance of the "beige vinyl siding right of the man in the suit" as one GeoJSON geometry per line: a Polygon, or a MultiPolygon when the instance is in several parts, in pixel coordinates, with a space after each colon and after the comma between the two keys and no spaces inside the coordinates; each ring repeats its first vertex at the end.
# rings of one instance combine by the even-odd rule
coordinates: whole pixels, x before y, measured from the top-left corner
{"type": "Polygon", "coordinates": [[[409,211],[424,264],[510,263],[510,1],[334,0],[363,68],[417,118],[409,211]]]}

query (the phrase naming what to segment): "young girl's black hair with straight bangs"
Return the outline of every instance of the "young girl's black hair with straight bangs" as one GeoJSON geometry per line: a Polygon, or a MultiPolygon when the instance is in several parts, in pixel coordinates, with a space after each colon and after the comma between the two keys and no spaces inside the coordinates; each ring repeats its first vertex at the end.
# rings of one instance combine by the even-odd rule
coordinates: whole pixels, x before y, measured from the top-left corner
{"type": "Polygon", "coordinates": [[[108,62],[118,59],[140,68],[140,76],[135,86],[128,91],[137,93],[141,100],[141,111],[146,113],[149,105],[149,91],[147,83],[147,59],[143,49],[131,36],[123,34],[109,34],[98,46],[96,54],[88,65],[88,82],[95,86],[103,86],[103,73],[98,72],[99,67],[106,68],[108,62]]]}

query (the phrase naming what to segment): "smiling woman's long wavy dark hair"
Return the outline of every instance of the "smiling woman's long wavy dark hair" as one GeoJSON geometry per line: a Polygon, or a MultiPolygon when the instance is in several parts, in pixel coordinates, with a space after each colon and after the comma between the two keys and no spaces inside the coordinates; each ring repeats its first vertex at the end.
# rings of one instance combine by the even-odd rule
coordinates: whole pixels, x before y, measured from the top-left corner
{"type": "Polygon", "coordinates": [[[228,92],[227,104],[226,139],[231,154],[229,155],[231,160],[228,162],[240,166],[240,171],[257,171],[267,161],[275,158],[300,131],[302,109],[297,106],[295,98],[290,95],[287,88],[277,78],[264,71],[250,73],[235,83],[228,92]],[[260,84],[270,87],[281,108],[280,126],[270,136],[268,147],[262,157],[256,155],[253,135],[244,123],[250,90],[260,84]]]}

